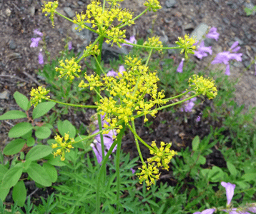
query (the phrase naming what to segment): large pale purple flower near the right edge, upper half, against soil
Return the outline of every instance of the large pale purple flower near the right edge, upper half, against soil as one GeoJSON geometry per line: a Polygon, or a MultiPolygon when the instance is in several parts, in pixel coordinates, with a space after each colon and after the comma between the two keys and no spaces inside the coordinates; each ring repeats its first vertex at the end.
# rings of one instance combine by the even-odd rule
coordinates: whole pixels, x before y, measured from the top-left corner
{"type": "MultiPolygon", "coordinates": [[[[234,44],[232,44],[230,50],[232,52],[235,50],[239,50],[238,48],[240,47],[236,47],[236,46],[237,46],[237,41],[234,44]]],[[[232,59],[235,59],[236,61],[242,61],[242,53],[233,54],[233,53],[230,53],[230,51],[223,51],[217,54],[215,59],[212,61],[212,64],[224,63],[227,66],[225,74],[230,76],[230,64],[228,63],[228,61],[232,59]]]]}

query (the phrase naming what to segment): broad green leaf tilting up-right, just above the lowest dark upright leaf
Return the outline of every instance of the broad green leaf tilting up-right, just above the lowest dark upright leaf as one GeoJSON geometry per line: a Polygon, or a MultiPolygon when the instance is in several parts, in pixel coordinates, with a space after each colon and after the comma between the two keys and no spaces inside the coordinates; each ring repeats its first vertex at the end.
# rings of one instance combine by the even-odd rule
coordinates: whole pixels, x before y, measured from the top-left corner
{"type": "Polygon", "coordinates": [[[7,172],[4,174],[2,187],[4,189],[9,189],[16,185],[16,183],[19,181],[19,178],[21,178],[22,174],[22,166],[21,165],[15,165],[13,168],[10,168],[7,170],[7,172]]]}

